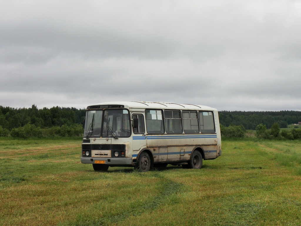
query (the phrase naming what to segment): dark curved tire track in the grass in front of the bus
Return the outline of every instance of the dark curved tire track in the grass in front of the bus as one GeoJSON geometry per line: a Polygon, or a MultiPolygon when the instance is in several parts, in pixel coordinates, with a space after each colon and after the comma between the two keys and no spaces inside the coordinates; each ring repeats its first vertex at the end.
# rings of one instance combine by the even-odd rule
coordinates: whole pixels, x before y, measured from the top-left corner
{"type": "MultiPolygon", "coordinates": [[[[155,176],[155,177],[158,177],[155,176]]],[[[124,210],[122,213],[110,216],[110,217],[104,217],[104,218],[96,218],[96,219],[85,219],[80,216],[78,220],[75,220],[74,222],[67,224],[70,226],[96,226],[96,225],[109,225],[109,224],[118,224],[119,222],[126,220],[129,217],[132,216],[139,216],[143,214],[144,212],[150,212],[155,210],[160,205],[170,201],[169,199],[171,196],[175,193],[178,193],[182,190],[183,185],[179,183],[175,183],[172,180],[164,179],[163,177],[160,181],[160,184],[163,184],[164,190],[162,190],[158,196],[154,197],[151,201],[146,202],[142,206],[137,206],[134,209],[128,209],[124,210]]],[[[173,202],[173,201],[171,201],[173,202]]],[[[59,224],[61,225],[61,224],[59,224]]],[[[65,224],[62,224],[65,225],[65,224]]]]}

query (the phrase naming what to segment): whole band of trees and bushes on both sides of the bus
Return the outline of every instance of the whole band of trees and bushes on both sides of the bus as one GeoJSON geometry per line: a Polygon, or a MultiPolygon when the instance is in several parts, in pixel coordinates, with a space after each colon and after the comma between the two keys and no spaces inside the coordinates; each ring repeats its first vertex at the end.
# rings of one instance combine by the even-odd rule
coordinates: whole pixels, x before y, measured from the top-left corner
{"type": "MultiPolygon", "coordinates": [[[[85,111],[73,107],[38,109],[36,105],[32,105],[31,108],[0,105],[0,136],[82,136],[85,111]]],[[[265,128],[266,131],[258,137],[268,138],[271,137],[269,129],[273,125],[287,128],[288,124],[296,124],[299,121],[301,111],[219,111],[221,133],[225,137],[243,137],[246,130],[256,130],[258,125],[262,125],[261,128],[265,128]]],[[[296,137],[294,132],[295,130],[282,136],[296,137]]]]}

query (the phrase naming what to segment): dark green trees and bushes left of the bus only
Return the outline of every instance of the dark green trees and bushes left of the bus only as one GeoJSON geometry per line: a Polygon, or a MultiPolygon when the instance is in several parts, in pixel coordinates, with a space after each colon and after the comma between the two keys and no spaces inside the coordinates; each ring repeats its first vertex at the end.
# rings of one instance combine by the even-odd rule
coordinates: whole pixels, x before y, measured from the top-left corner
{"type": "Polygon", "coordinates": [[[52,107],[38,109],[0,106],[0,136],[82,136],[85,109],[52,107]]]}

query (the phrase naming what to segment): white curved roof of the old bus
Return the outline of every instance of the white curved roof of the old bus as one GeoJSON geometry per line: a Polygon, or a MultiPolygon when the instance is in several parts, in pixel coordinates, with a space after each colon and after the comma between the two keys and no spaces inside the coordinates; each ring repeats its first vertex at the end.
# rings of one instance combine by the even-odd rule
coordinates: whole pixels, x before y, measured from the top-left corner
{"type": "Polygon", "coordinates": [[[95,108],[109,108],[111,105],[124,105],[127,108],[157,108],[157,109],[179,109],[179,110],[208,110],[216,111],[215,108],[211,108],[204,105],[194,104],[175,104],[167,102],[147,102],[147,101],[120,101],[120,102],[103,102],[95,105],[88,106],[87,109],[95,108]],[[107,106],[107,107],[106,107],[107,106]]]}

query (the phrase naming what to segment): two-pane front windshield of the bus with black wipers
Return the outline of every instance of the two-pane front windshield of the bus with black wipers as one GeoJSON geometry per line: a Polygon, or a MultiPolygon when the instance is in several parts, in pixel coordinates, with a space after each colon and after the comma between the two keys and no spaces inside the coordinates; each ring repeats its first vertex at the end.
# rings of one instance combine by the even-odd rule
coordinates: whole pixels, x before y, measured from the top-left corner
{"type": "Polygon", "coordinates": [[[129,111],[109,109],[87,111],[84,137],[129,137],[131,127],[129,111]],[[102,118],[104,117],[104,118],[102,118]]]}

